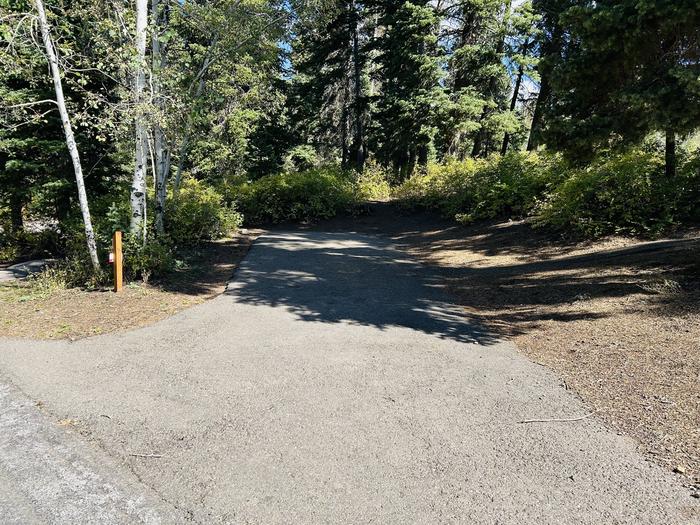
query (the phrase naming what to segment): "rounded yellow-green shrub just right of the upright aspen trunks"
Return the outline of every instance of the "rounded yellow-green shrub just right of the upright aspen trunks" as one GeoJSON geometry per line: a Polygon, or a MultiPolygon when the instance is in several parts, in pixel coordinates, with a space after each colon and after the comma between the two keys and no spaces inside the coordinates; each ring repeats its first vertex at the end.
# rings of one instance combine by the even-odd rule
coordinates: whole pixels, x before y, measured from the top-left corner
{"type": "Polygon", "coordinates": [[[231,235],[243,222],[214,188],[193,178],[182,182],[177,200],[168,199],[165,219],[168,235],[178,246],[231,235]]]}

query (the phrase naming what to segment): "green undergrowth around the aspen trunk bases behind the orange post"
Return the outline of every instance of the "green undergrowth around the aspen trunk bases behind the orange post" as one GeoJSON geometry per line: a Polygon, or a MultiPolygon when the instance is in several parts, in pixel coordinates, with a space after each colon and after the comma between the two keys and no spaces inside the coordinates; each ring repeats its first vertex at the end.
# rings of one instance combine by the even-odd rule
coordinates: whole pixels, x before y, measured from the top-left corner
{"type": "MultiPolygon", "coordinates": [[[[129,231],[127,193],[96,202],[93,226],[100,261],[107,270],[112,235],[116,230],[129,231]]],[[[150,203],[149,203],[150,205],[150,203]]],[[[166,208],[167,234],[156,231],[153,220],[146,223],[147,241],[124,234],[124,272],[127,280],[148,281],[186,266],[186,255],[202,241],[233,234],[243,221],[233,204],[211,186],[193,178],[185,179],[178,196],[171,196],[166,208]]],[[[95,274],[85,248],[85,234],[80,217],[70,215],[59,224],[43,224],[32,231],[13,232],[7,224],[0,228],[0,262],[31,258],[56,261],[48,271],[33,278],[34,288],[97,287],[107,284],[107,271],[95,274]]]]}

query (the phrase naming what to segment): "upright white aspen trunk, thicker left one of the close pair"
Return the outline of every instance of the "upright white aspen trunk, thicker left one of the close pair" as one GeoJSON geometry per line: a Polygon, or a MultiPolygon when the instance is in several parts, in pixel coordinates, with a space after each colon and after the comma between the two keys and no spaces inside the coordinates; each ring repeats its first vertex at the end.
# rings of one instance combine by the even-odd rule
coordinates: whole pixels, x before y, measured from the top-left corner
{"type": "Polygon", "coordinates": [[[146,86],[144,60],[146,58],[146,29],[148,24],[148,0],[136,0],[136,79],[134,103],[136,104],[135,164],[131,180],[131,233],[146,240],[146,169],[148,134],[143,110],[143,92],[146,86]]]}

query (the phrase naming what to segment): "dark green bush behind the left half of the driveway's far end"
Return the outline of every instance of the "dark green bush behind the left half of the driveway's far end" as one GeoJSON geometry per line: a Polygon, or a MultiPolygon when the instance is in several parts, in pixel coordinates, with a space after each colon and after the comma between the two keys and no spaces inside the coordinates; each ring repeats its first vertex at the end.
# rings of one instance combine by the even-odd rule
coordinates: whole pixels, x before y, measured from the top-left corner
{"type": "Polygon", "coordinates": [[[329,219],[352,211],[357,202],[351,177],[330,167],[268,175],[235,190],[250,224],[329,219]]]}

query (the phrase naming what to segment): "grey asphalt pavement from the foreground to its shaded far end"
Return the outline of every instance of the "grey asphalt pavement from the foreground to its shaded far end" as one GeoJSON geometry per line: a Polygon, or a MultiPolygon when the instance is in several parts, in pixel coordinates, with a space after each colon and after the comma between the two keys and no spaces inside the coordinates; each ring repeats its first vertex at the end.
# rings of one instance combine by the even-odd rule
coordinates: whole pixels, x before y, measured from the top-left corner
{"type": "MultiPolygon", "coordinates": [[[[521,423],[588,409],[379,237],[268,234],[226,294],[126,334],[1,340],[0,374],[166,523],[700,523],[595,416],[521,423]]],[[[69,523],[0,430],[0,516],[69,523]]]]}

